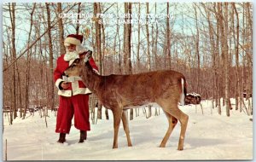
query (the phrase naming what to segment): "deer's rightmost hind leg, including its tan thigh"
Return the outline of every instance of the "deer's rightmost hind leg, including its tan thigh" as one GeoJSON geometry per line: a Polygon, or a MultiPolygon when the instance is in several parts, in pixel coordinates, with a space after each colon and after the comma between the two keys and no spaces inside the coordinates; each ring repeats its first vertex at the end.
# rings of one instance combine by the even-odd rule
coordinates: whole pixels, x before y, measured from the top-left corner
{"type": "Polygon", "coordinates": [[[177,101],[170,101],[170,100],[163,100],[159,101],[159,105],[164,109],[166,113],[169,113],[174,117],[175,119],[178,119],[178,121],[181,124],[181,131],[178,141],[177,150],[183,150],[183,143],[185,138],[185,133],[187,129],[187,124],[189,121],[189,116],[185,113],[183,113],[180,109],[177,107],[177,101]]]}

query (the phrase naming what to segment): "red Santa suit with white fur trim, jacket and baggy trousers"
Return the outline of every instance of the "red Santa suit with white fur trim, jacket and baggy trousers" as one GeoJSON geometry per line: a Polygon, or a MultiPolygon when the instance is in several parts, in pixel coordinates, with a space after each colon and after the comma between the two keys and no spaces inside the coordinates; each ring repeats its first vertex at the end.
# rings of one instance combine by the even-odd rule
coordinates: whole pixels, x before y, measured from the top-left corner
{"type": "MultiPolygon", "coordinates": [[[[75,57],[79,57],[76,55],[75,57]]],[[[61,83],[66,81],[64,71],[74,61],[74,55],[61,55],[57,59],[57,66],[54,72],[55,85],[59,89],[58,95],[60,95],[60,105],[57,113],[56,133],[69,133],[72,119],[74,116],[74,126],[79,130],[90,130],[90,113],[89,113],[89,94],[90,90],[86,88],[82,79],[79,76],[70,77],[68,84],[70,84],[67,90],[62,90],[61,83]]],[[[95,61],[91,58],[90,65],[96,71],[95,61]]]]}

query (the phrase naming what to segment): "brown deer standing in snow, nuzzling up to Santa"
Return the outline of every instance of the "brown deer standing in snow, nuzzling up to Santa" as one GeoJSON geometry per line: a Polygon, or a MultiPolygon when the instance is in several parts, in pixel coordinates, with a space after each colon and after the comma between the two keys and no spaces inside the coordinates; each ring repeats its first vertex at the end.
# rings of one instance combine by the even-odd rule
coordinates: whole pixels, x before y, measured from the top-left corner
{"type": "Polygon", "coordinates": [[[168,130],[160,143],[160,148],[166,147],[166,142],[172,130],[180,122],[181,130],[177,150],[183,150],[183,142],[189,121],[189,116],[178,108],[178,102],[184,105],[186,95],[186,79],[180,72],[162,70],[138,74],[102,76],[90,67],[89,50],[83,58],[73,61],[65,71],[66,76],[79,74],[84,84],[94,93],[103,107],[113,113],[113,148],[118,148],[119,124],[122,120],[128,147],[131,147],[131,137],[128,125],[127,110],[141,107],[148,103],[159,105],[168,119],[168,130]]]}

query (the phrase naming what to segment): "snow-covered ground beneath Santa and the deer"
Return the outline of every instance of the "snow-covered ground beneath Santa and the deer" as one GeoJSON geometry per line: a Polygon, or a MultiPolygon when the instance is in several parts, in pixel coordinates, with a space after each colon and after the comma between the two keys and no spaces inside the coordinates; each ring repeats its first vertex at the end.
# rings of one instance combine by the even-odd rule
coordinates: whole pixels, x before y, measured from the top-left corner
{"type": "MultiPolygon", "coordinates": [[[[79,143],[79,130],[72,127],[67,142],[57,143],[55,114],[50,113],[48,128],[39,113],[26,119],[15,119],[9,125],[3,114],[3,160],[7,140],[8,160],[197,160],[197,159],[253,159],[253,116],[243,112],[230,111],[226,117],[212,109],[211,101],[202,101],[203,113],[197,106],[180,107],[189,115],[184,150],[177,150],[180,124],[173,130],[166,148],[159,148],[166,134],[167,120],[160,111],[159,116],[146,119],[143,109],[140,116],[130,121],[132,147],[127,147],[122,124],[119,129],[119,148],[113,145],[113,117],[91,124],[88,139],[79,143]]],[[[103,112],[103,111],[102,111],[103,112]]],[[[102,113],[103,114],[103,113],[102,113]]],[[[153,108],[154,114],[154,108],[153,108]]]]}

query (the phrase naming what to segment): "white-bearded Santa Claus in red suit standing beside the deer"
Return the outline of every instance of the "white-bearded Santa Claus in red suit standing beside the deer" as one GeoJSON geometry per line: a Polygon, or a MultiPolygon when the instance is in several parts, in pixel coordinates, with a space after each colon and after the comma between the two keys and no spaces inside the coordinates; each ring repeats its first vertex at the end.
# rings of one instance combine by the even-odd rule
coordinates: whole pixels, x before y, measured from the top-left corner
{"type": "MultiPolygon", "coordinates": [[[[61,143],[66,142],[66,134],[70,131],[73,116],[74,126],[80,130],[79,142],[86,140],[87,131],[90,130],[88,105],[90,90],[86,88],[79,76],[67,77],[64,74],[67,67],[78,59],[79,55],[86,52],[82,42],[82,35],[71,34],[67,36],[64,41],[67,52],[57,59],[54,72],[55,85],[58,88],[58,95],[60,95],[55,132],[60,133],[58,142],[61,143]]],[[[98,72],[93,58],[89,62],[94,71],[98,72]]]]}

